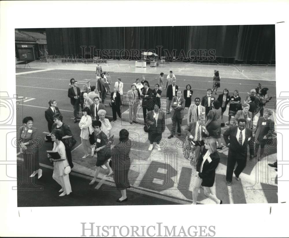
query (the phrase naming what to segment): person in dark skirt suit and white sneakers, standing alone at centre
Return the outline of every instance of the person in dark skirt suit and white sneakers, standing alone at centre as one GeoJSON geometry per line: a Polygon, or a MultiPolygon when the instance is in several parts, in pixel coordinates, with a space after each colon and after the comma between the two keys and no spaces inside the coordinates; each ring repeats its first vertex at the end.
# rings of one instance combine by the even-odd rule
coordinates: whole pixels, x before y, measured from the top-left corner
{"type": "Polygon", "coordinates": [[[160,140],[162,139],[162,133],[166,129],[166,118],[162,111],[159,111],[158,104],[154,102],[154,109],[147,113],[147,124],[149,125],[149,151],[153,149],[153,142],[155,146],[160,148],[160,140]]]}

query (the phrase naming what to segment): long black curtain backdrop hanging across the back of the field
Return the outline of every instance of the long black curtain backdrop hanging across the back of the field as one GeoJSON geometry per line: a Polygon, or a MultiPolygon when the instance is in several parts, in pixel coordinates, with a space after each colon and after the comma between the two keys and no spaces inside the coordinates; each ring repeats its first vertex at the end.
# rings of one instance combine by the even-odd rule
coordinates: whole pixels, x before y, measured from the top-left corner
{"type": "Polygon", "coordinates": [[[212,50],[240,61],[275,60],[275,25],[46,28],[46,36],[50,55],[83,56],[91,46],[95,56],[123,59],[148,50],[167,59],[200,56],[201,50],[208,56],[212,50]]]}

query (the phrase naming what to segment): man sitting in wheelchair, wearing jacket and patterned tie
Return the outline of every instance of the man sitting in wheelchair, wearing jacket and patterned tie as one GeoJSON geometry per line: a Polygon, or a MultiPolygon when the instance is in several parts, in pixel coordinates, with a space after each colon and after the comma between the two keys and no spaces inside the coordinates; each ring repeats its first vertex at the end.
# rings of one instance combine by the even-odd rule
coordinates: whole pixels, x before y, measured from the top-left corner
{"type": "Polygon", "coordinates": [[[194,164],[196,165],[204,148],[205,137],[208,137],[209,132],[205,127],[205,116],[199,115],[196,122],[190,122],[184,129],[186,139],[193,142],[194,146],[194,164]]]}

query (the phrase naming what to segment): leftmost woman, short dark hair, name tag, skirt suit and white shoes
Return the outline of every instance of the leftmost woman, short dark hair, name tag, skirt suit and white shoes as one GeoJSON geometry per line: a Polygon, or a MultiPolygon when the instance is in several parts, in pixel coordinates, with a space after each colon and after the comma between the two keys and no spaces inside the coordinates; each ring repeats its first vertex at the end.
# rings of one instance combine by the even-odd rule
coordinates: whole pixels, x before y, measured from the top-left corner
{"type": "MultiPolygon", "coordinates": [[[[19,147],[21,158],[23,158],[23,169],[26,173],[33,173],[30,177],[34,177],[38,174],[38,178],[42,176],[42,169],[39,166],[39,150],[37,145],[40,142],[37,142],[38,132],[37,128],[33,127],[33,118],[27,116],[23,118],[23,126],[19,128],[19,147]],[[30,171],[32,168],[32,171],[30,171]]],[[[25,179],[26,179],[25,173],[25,179]]]]}

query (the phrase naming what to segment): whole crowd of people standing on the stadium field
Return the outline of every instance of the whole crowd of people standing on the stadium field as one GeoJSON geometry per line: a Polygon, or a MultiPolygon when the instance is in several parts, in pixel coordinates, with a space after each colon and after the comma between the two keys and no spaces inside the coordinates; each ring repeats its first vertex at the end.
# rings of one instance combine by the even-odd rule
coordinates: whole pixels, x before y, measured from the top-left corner
{"type": "MultiPolygon", "coordinates": [[[[128,171],[130,166],[130,146],[129,132],[126,129],[119,131],[119,143],[112,143],[112,125],[110,120],[105,118],[107,110],[111,107],[112,121],[121,118],[121,105],[123,104],[123,82],[117,78],[113,90],[111,88],[112,79],[109,72],[103,72],[99,64],[96,68],[96,85],[91,85],[87,81],[82,88],[78,87],[75,79],[70,79],[68,85],[68,97],[73,106],[73,121],[79,123],[79,136],[84,150],[82,159],[92,157],[96,159],[95,175],[90,185],[94,184],[100,172],[100,167],[107,169],[107,176],[113,175],[116,188],[121,191],[121,197],[117,202],[127,201],[126,189],[130,187],[128,181],[128,171]],[[110,102],[105,104],[106,97],[110,96],[110,102]],[[79,117],[81,108],[82,116],[79,117]],[[120,153],[122,156],[120,156],[120,153]]],[[[213,87],[207,90],[207,94],[202,98],[194,98],[192,103],[193,90],[190,84],[186,85],[182,92],[176,84],[176,77],[172,71],[169,72],[166,82],[164,73],[160,73],[158,83],[154,89],[150,88],[149,82],[142,76],[141,80],[136,79],[131,84],[131,89],[126,94],[129,105],[129,123],[144,124],[145,131],[148,132],[148,150],[153,149],[155,143],[158,150],[161,150],[160,140],[165,131],[165,112],[161,111],[162,89],[166,90],[166,114],[171,114],[172,126],[168,139],[177,135],[181,136],[181,124],[187,110],[187,126],[184,129],[187,137],[194,144],[194,162],[197,165],[197,174],[194,180],[193,204],[197,202],[198,189],[202,186],[205,195],[214,200],[217,204],[222,204],[222,200],[215,195],[213,188],[215,180],[215,170],[220,161],[218,151],[223,148],[221,144],[221,127],[224,124],[223,114],[229,104],[229,119],[227,125],[231,125],[223,134],[225,143],[229,148],[226,183],[231,185],[233,172],[236,180],[246,166],[247,147],[250,148],[250,160],[257,154],[257,159],[262,159],[262,149],[267,140],[272,138],[274,132],[274,121],[270,119],[273,111],[265,109],[269,101],[267,96],[268,88],[262,88],[259,84],[256,89],[252,89],[245,100],[240,98],[238,90],[234,90],[232,96],[225,88],[218,96],[213,96],[215,90],[217,94],[220,88],[221,77],[217,70],[214,71],[213,87]],[[137,112],[142,108],[143,121],[138,118],[137,112]],[[257,126],[253,129],[253,120],[260,112],[257,126]],[[231,124],[231,119],[233,123],[231,124]],[[223,123],[222,123],[223,122],[223,123]],[[258,153],[254,148],[260,147],[258,153]],[[234,170],[235,164],[237,168],[234,170]]],[[[67,124],[63,122],[61,111],[57,107],[54,99],[49,100],[49,107],[45,111],[45,118],[48,123],[49,136],[51,136],[52,150],[57,151],[59,159],[47,155],[54,164],[53,179],[61,186],[59,196],[65,196],[72,192],[69,181],[69,174],[65,173],[65,168],[73,168],[71,148],[75,144],[73,134],[67,124]]],[[[38,148],[33,146],[33,138],[37,136],[37,129],[33,127],[33,118],[25,117],[23,126],[19,130],[20,151],[26,163],[26,167],[33,167],[30,177],[38,174],[42,176],[39,167],[38,148]],[[33,157],[30,156],[32,149],[33,157]],[[29,154],[30,153],[30,154],[29,154]],[[33,161],[31,161],[33,158],[33,161]]],[[[47,140],[47,139],[46,139],[47,140]]]]}

